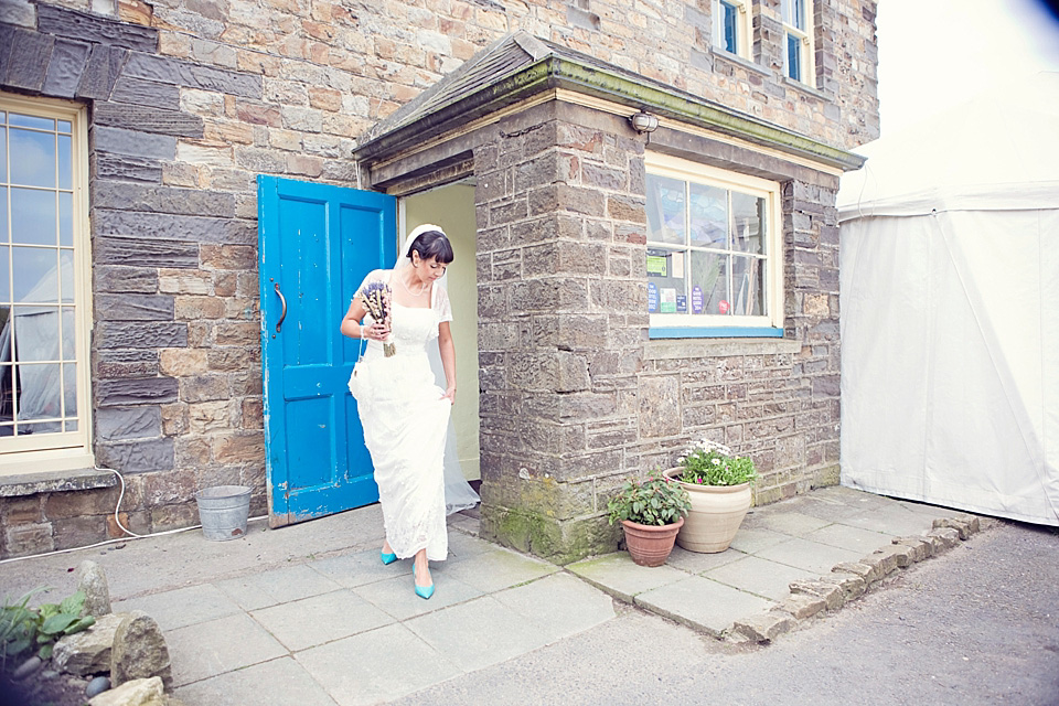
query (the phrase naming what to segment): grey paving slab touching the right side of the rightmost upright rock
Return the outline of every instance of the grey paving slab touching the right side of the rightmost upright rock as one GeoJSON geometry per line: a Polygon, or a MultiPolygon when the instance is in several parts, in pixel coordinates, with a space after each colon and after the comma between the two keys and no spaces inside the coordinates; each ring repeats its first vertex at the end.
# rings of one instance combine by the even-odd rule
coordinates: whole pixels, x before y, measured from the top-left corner
{"type": "Polygon", "coordinates": [[[168,631],[165,643],[174,686],[287,654],[284,645],[243,612],[168,631]]]}

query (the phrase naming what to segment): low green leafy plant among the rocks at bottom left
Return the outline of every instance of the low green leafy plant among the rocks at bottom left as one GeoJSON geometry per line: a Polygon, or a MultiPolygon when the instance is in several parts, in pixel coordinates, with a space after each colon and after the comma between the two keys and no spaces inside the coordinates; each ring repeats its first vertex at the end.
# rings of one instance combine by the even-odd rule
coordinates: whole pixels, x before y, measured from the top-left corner
{"type": "Polygon", "coordinates": [[[72,635],[95,624],[92,616],[82,617],[85,595],[77,591],[61,603],[42,603],[29,608],[36,588],[15,602],[4,601],[0,608],[0,666],[7,668],[8,660],[22,656],[35,649],[38,656],[50,660],[55,642],[63,635],[72,635]]]}

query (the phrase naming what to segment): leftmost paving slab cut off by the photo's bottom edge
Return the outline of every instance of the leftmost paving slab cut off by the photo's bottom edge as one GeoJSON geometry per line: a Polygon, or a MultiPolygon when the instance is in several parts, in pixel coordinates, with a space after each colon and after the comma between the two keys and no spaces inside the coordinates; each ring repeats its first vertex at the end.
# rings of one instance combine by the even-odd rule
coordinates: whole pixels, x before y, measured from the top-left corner
{"type": "Polygon", "coordinates": [[[289,656],[181,686],[175,695],[186,706],[335,706],[323,687],[289,656]]]}

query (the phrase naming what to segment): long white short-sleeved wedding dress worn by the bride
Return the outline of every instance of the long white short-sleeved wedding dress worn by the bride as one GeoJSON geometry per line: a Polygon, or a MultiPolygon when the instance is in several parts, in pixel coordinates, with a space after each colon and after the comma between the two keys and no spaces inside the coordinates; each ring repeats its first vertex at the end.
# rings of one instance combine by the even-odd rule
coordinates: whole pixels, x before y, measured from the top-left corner
{"type": "MultiPolygon", "coordinates": [[[[391,271],[375,270],[364,285],[388,282],[391,271]]],[[[452,404],[437,385],[427,346],[437,346],[438,324],[451,321],[452,313],[445,288],[434,287],[431,300],[429,308],[394,303],[389,342],[396,354],[386,357],[382,342],[368,341],[350,392],[375,467],[391,548],[400,558],[426,548],[427,558],[439,561],[448,555],[442,459],[452,404]]]]}

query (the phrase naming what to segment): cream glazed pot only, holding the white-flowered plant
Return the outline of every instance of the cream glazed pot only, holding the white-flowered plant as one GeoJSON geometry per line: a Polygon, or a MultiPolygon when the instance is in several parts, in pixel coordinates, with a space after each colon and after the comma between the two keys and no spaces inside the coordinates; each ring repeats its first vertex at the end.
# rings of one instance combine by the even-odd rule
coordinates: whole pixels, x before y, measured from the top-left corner
{"type": "Polygon", "coordinates": [[[715,554],[731,544],[750,510],[750,483],[740,485],[697,485],[677,480],[684,469],[671,468],[665,472],[687,490],[692,498],[692,511],[676,535],[676,543],[688,552],[715,554]]]}

